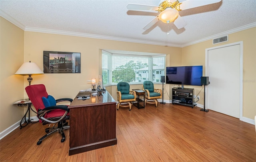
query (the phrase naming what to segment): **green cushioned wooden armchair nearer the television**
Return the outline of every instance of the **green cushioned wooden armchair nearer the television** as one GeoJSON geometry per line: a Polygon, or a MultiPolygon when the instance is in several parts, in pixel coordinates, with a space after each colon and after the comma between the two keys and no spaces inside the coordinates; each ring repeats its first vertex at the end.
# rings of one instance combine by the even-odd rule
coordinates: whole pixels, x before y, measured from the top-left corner
{"type": "Polygon", "coordinates": [[[151,81],[144,81],[142,85],[142,90],[145,91],[145,106],[148,104],[156,104],[157,107],[157,98],[162,98],[162,90],[154,89],[154,84],[151,81]]]}

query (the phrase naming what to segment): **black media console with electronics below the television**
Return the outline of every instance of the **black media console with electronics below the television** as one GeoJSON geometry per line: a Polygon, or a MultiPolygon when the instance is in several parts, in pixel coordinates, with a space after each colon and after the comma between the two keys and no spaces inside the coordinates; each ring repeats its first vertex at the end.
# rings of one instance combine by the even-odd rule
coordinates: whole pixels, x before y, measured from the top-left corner
{"type": "Polygon", "coordinates": [[[194,108],[194,88],[172,88],[172,104],[194,108]]]}

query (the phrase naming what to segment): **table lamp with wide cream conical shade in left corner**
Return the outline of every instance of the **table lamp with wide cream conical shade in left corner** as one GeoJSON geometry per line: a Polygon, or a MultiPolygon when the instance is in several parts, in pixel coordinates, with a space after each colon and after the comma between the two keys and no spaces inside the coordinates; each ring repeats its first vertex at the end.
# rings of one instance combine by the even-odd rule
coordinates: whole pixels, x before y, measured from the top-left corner
{"type": "Polygon", "coordinates": [[[30,83],[33,80],[31,75],[33,75],[33,74],[44,74],[44,72],[37,66],[36,63],[34,63],[34,62],[24,62],[15,74],[28,75],[28,82],[29,82],[29,85],[30,85],[30,83]]]}

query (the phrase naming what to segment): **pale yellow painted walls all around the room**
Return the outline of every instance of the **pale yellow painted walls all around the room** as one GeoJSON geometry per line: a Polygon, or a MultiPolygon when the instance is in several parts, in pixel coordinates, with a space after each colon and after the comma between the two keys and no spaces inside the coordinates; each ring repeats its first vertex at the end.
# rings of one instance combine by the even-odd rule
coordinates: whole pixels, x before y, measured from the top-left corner
{"type": "MultiPolygon", "coordinates": [[[[26,98],[24,88],[28,86],[27,76],[14,75],[23,62],[35,62],[43,70],[43,51],[80,52],[80,74],[42,74],[34,75],[31,84],[45,84],[48,94],[55,98],[74,98],[79,90],[91,88],[86,82],[91,78],[98,80],[101,72],[100,49],[127,50],[166,54],[166,66],[203,65],[205,64],[205,49],[212,47],[211,40],[184,48],[157,46],[132,42],[102,40],[60,34],[39,32],[24,32],[20,28],[1,18],[0,24],[0,132],[18,122],[24,115],[24,108],[12,105],[16,100],[26,98]]],[[[255,53],[256,28],[244,30],[229,35],[229,42],[244,41],[244,83],[243,112],[244,117],[253,119],[255,110],[255,53]],[[252,102],[253,101],[253,102],[252,102]]],[[[222,45],[222,44],[220,44],[222,45]]],[[[218,45],[215,45],[218,46],[218,45]]],[[[166,90],[170,96],[173,85],[167,84],[166,90]]],[[[131,85],[132,88],[142,88],[142,85],[131,85]]],[[[156,84],[162,88],[162,84],[156,84]]],[[[194,87],[197,94],[201,87],[194,87]]],[[[116,86],[107,87],[116,99],[116,86]]],[[[203,94],[199,94],[200,98],[203,94]]],[[[164,100],[168,96],[164,94],[164,100]]],[[[203,104],[201,99],[199,104],[203,104]]],[[[32,114],[35,116],[35,114],[32,114]]]]}

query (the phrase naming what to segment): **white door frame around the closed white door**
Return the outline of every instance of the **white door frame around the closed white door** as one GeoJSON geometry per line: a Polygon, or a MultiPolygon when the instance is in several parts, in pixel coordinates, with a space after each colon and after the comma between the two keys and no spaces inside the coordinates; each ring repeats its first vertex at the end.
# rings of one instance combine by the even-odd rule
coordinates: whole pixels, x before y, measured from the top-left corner
{"type": "MultiPolygon", "coordinates": [[[[230,44],[225,44],[222,46],[216,46],[216,47],[212,47],[212,48],[206,48],[205,49],[205,76],[208,76],[208,54],[209,54],[209,50],[214,50],[214,49],[218,49],[218,48],[224,48],[224,47],[228,47],[228,46],[234,46],[234,45],[240,45],[240,114],[239,114],[239,119],[242,120],[243,117],[243,41],[240,42],[235,42],[235,43],[230,43],[230,44]]],[[[210,78],[209,78],[210,81],[210,78]]],[[[205,108],[208,109],[208,86],[205,87],[205,108]]]]}

